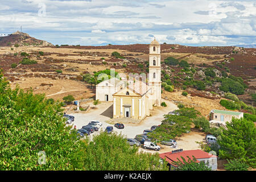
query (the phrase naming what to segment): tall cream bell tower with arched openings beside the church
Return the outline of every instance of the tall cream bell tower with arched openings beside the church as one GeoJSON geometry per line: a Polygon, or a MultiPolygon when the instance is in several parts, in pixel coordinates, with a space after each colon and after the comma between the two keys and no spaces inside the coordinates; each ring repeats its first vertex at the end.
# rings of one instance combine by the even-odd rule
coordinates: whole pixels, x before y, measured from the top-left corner
{"type": "Polygon", "coordinates": [[[161,56],[160,44],[155,39],[150,43],[149,54],[149,85],[153,94],[154,104],[161,102],[161,56]]]}

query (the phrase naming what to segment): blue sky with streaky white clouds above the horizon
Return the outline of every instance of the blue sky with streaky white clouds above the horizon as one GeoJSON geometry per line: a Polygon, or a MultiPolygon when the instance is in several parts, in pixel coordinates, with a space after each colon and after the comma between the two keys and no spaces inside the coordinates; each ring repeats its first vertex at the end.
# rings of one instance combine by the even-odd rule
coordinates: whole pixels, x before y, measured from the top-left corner
{"type": "Polygon", "coordinates": [[[17,30],[52,44],[256,44],[256,1],[0,1],[0,35],[17,30]]]}

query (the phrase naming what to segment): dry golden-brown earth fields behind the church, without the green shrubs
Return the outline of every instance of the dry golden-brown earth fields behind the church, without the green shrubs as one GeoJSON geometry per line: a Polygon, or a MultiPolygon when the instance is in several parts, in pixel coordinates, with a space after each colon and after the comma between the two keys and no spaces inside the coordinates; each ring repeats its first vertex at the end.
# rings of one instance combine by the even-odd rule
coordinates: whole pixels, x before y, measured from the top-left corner
{"type": "MultiPolygon", "coordinates": [[[[4,76],[11,81],[11,85],[19,84],[20,88],[28,89],[30,86],[35,93],[46,93],[56,100],[61,100],[68,94],[73,94],[76,99],[92,97],[94,90],[88,90],[89,85],[81,82],[81,74],[93,73],[104,69],[114,68],[118,73],[146,73],[145,61],[148,61],[148,44],[134,45],[110,45],[110,46],[61,46],[39,47],[39,46],[19,46],[0,47],[0,68],[3,69],[4,76]],[[13,50],[11,50],[13,48],[13,50]],[[39,55],[39,51],[43,55],[39,55]],[[125,59],[117,59],[111,55],[117,51],[125,59]],[[29,54],[28,59],[36,60],[38,64],[23,65],[19,62],[24,58],[21,52],[29,54]],[[16,54],[16,55],[15,55],[16,54]],[[104,58],[103,58],[104,57],[104,58]],[[103,64],[105,62],[105,64],[103,64]],[[11,68],[11,64],[16,63],[16,68],[11,68]],[[116,65],[114,65],[116,64],[116,65]],[[124,68],[122,65],[126,64],[124,68]],[[138,64],[143,64],[143,68],[138,68],[138,64]],[[61,70],[62,73],[56,73],[61,70]],[[53,86],[40,86],[49,84],[53,86]],[[67,84],[68,82],[68,84],[67,84]],[[71,86],[72,85],[72,86],[71,86]],[[35,89],[39,88],[39,89],[35,89]],[[84,90],[84,93],[82,93],[84,90]],[[86,92],[85,92],[86,91],[86,92]]],[[[247,79],[247,85],[251,92],[255,92],[256,51],[249,48],[238,47],[189,47],[177,44],[161,45],[161,61],[167,57],[175,57],[178,60],[186,60],[198,68],[213,67],[218,68],[217,63],[222,63],[225,59],[234,57],[234,61],[225,61],[224,67],[230,69],[230,73],[235,76],[242,76],[247,79]],[[235,53],[233,53],[235,50],[235,53]]],[[[172,67],[162,64],[162,69],[174,72],[167,72],[170,77],[181,71],[179,67],[172,67]]],[[[224,68],[220,71],[225,70],[224,68]]],[[[205,92],[195,89],[187,89],[191,94],[188,97],[181,96],[181,91],[169,93],[163,92],[163,98],[176,102],[184,102],[187,105],[195,106],[204,115],[209,114],[211,109],[224,109],[218,102],[220,97],[204,96],[205,92]],[[195,93],[193,93],[195,92],[195,93]],[[205,102],[201,102],[204,100],[205,102]]],[[[208,91],[211,91],[208,89],[208,91]]],[[[215,90],[213,90],[215,92],[215,90]]],[[[50,97],[48,96],[48,97],[50,97]]],[[[250,102],[250,95],[240,96],[250,102]]],[[[247,102],[246,102],[247,103],[247,102]]]]}

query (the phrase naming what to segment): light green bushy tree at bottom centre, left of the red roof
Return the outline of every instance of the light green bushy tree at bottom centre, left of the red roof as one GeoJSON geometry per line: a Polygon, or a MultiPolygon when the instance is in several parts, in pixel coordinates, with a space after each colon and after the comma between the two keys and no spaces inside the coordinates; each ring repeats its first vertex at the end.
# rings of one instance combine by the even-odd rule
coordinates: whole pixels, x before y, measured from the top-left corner
{"type": "Polygon", "coordinates": [[[159,162],[159,154],[139,153],[130,147],[121,134],[102,132],[86,144],[82,159],[86,170],[167,170],[167,163],[159,162]]]}

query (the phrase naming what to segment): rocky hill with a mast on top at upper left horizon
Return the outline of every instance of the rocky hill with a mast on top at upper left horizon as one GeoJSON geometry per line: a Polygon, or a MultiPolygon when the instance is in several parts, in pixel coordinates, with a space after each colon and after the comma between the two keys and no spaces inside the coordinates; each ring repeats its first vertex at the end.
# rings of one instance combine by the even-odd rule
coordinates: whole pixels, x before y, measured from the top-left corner
{"type": "Polygon", "coordinates": [[[53,46],[45,40],[32,38],[30,35],[19,31],[7,36],[0,36],[0,47],[14,46],[15,44],[19,46],[53,46]]]}

